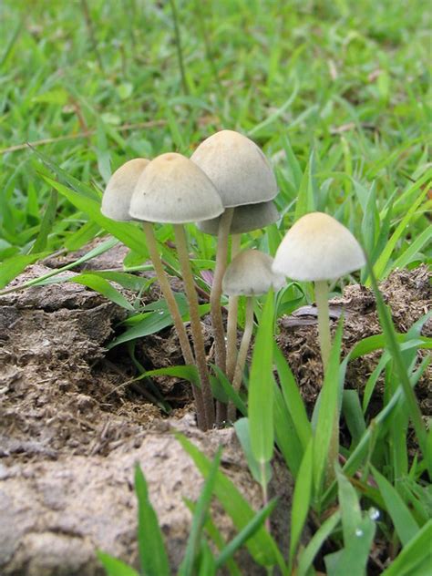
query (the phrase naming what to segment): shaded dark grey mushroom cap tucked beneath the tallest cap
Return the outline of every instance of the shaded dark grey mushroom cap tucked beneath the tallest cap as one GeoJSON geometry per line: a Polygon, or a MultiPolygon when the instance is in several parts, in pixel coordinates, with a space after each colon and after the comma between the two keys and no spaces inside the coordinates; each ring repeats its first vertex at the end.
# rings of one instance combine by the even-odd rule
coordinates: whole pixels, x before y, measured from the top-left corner
{"type": "MultiPolygon", "coordinates": [[[[242,234],[252,230],[264,228],[280,218],[279,212],[273,204],[273,201],[260,202],[259,204],[245,204],[234,208],[234,214],[231,221],[231,234],[242,234]]],[[[221,216],[211,220],[198,222],[198,228],[205,234],[218,235],[219,222],[221,216]]]]}

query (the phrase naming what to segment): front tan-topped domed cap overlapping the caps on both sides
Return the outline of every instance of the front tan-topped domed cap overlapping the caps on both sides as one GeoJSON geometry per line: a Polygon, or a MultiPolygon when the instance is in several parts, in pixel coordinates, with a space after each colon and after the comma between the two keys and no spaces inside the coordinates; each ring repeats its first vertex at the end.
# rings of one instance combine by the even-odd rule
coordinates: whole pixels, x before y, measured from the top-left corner
{"type": "Polygon", "coordinates": [[[130,202],[138,220],[171,224],[209,220],[223,211],[211,180],[190,159],[170,152],[151,160],[130,202]]]}

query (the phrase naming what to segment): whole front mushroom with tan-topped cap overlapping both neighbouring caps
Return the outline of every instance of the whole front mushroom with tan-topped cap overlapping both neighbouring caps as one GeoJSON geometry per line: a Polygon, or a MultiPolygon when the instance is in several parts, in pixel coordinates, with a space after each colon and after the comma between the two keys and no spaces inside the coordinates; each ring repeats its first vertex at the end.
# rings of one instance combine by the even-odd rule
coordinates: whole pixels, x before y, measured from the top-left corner
{"type": "Polygon", "coordinates": [[[213,425],[214,406],[198,296],[190,269],[183,224],[216,218],[222,211],[221,198],[211,180],[190,159],[177,153],[161,154],[149,163],[139,177],[129,209],[133,218],[143,221],[149,251],[155,255],[158,254],[158,248],[150,222],[173,224],[180,269],[190,307],[190,328],[201,382],[201,391],[193,387],[201,428],[213,425]]]}

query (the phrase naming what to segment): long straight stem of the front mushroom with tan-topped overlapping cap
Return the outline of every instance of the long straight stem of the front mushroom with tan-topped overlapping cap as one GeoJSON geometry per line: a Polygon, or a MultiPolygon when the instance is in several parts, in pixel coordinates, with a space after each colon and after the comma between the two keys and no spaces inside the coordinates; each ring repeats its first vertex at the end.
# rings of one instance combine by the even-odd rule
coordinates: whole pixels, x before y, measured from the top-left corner
{"type": "Polygon", "coordinates": [[[200,375],[201,393],[204,401],[204,413],[207,427],[210,428],[215,422],[213,395],[211,393],[211,384],[209,371],[207,369],[207,358],[204,346],[204,337],[201,330],[200,309],[198,306],[198,295],[193,282],[193,275],[190,269],[188,244],[186,234],[181,224],[174,224],[174,235],[176,239],[177,252],[181,274],[183,276],[186,296],[189,303],[190,311],[190,329],[192,331],[193,346],[195,350],[196,365],[200,375]]]}

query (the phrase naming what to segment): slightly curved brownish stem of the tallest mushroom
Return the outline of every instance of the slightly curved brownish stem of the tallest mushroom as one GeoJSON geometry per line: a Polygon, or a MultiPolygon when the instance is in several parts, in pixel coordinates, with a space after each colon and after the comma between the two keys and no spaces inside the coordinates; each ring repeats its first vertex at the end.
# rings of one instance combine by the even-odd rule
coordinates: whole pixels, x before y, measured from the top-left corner
{"type": "Polygon", "coordinates": [[[226,372],[225,331],[223,329],[221,312],[222,278],[227,266],[228,237],[230,234],[233,213],[233,208],[227,208],[221,215],[221,222],[218,231],[216,266],[214,269],[214,277],[210,293],[211,324],[213,328],[216,365],[221,368],[222,372],[226,372]]]}

